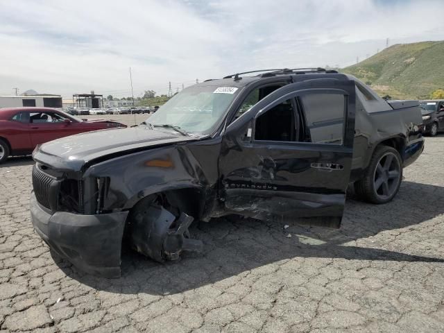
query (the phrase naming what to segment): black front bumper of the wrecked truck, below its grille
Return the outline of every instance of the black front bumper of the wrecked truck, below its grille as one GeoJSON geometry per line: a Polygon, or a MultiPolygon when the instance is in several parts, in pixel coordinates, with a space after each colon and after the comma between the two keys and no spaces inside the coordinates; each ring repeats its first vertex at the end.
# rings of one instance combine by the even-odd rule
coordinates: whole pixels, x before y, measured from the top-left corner
{"type": "Polygon", "coordinates": [[[123,229],[128,212],[81,215],[51,214],[31,193],[31,221],[49,247],[80,270],[119,278],[123,229]]]}

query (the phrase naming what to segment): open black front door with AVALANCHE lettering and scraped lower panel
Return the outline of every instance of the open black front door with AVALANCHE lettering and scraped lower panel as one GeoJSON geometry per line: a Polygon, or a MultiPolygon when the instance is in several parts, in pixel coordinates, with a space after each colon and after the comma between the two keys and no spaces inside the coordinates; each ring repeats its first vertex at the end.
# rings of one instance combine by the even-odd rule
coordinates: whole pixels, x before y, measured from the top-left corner
{"type": "Polygon", "coordinates": [[[226,128],[219,158],[225,210],[339,228],[354,131],[354,82],[275,90],[226,128]]]}

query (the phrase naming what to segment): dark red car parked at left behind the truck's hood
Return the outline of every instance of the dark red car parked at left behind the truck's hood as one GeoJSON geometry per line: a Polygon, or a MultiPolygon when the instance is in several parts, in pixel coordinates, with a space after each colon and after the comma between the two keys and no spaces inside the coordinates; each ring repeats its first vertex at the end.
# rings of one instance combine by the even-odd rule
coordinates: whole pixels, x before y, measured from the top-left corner
{"type": "Polygon", "coordinates": [[[59,137],[126,127],[105,119],[79,119],[51,108],[0,108],[0,163],[9,155],[28,155],[37,144],[59,137]]]}

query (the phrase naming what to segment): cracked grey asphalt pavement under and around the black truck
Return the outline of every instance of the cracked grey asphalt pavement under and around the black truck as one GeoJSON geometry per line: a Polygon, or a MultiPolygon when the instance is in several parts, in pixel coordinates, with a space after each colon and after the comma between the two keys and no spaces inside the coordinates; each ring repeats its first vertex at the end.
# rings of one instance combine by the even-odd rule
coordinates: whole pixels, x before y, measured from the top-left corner
{"type": "Polygon", "coordinates": [[[29,216],[30,157],[0,167],[1,332],[444,332],[444,136],[386,205],[348,197],[342,228],[228,217],[191,228],[204,253],[122,277],[55,254],[29,216]]]}

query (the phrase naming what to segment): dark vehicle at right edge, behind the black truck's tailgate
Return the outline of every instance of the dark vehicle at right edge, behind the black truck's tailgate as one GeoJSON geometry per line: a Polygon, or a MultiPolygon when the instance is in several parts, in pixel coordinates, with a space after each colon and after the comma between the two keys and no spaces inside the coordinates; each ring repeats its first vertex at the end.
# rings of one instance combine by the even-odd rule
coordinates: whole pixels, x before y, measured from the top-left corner
{"type": "Polygon", "coordinates": [[[432,137],[444,130],[444,100],[420,101],[422,113],[422,133],[432,137]]]}

